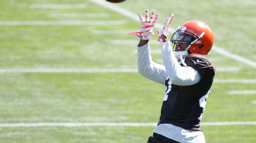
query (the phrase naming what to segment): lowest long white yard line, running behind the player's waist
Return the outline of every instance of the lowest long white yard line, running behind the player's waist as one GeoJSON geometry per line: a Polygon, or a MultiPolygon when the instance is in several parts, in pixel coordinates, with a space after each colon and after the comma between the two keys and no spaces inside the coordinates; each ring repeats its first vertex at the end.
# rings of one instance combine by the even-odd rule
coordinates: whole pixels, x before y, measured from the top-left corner
{"type": "MultiPolygon", "coordinates": [[[[256,125],[256,121],[237,122],[201,122],[201,125],[256,125]]],[[[88,127],[88,126],[126,126],[126,127],[156,127],[155,122],[38,122],[38,123],[6,123],[0,127],[88,127]]]]}

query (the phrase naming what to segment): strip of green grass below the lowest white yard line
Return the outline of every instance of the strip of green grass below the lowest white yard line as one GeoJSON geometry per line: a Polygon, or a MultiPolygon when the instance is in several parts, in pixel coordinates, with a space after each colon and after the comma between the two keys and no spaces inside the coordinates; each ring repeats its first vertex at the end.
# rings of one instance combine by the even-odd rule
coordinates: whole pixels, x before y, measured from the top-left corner
{"type": "MultiPolygon", "coordinates": [[[[254,142],[255,128],[202,127],[207,142],[254,142]],[[236,130],[240,130],[236,132],[236,130]]],[[[152,127],[32,127],[0,128],[3,142],[146,142],[152,127]],[[43,133],[43,136],[42,136],[43,133]]]]}

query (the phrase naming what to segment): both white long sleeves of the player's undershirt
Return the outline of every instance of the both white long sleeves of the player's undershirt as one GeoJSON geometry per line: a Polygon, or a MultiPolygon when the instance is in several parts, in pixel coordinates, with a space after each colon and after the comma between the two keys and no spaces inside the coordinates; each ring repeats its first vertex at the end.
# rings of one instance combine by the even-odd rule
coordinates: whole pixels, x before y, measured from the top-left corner
{"type": "Polygon", "coordinates": [[[166,78],[175,85],[193,85],[200,81],[198,71],[192,67],[182,67],[172,52],[171,44],[161,44],[163,65],[152,61],[149,42],[138,48],[138,72],[160,84],[165,84],[166,78]]]}

